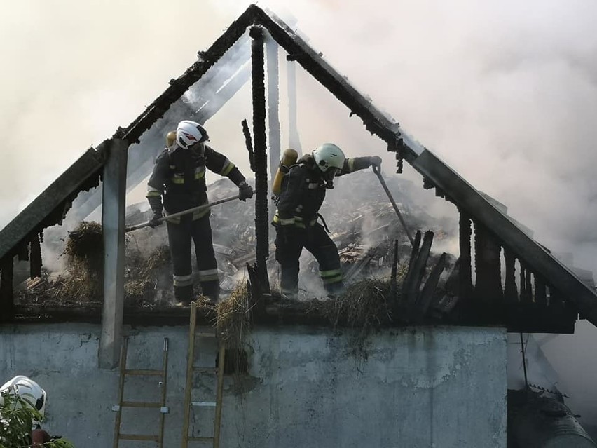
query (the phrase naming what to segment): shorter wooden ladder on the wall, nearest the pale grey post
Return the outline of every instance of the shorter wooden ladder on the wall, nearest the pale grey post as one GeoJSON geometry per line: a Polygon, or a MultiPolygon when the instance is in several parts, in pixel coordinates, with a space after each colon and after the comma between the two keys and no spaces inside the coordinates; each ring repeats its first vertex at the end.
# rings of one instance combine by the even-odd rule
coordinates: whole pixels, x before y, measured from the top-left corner
{"type": "Polygon", "coordinates": [[[168,338],[164,338],[164,353],[163,353],[163,367],[161,370],[153,369],[127,369],[128,351],[128,337],[123,340],[123,347],[121,351],[121,365],[120,365],[120,380],[118,381],[118,405],[112,407],[116,412],[116,419],[114,422],[114,448],[118,448],[118,443],[121,440],[145,440],[156,442],[159,448],[164,446],[164,417],[168,412],[166,407],[166,381],[168,373],[168,338]],[[141,401],[123,401],[124,385],[126,376],[158,376],[159,386],[162,389],[161,400],[159,402],[141,402],[141,401]],[[160,426],[157,435],[146,434],[123,434],[121,433],[122,409],[124,407],[142,407],[155,408],[160,411],[160,426]]]}

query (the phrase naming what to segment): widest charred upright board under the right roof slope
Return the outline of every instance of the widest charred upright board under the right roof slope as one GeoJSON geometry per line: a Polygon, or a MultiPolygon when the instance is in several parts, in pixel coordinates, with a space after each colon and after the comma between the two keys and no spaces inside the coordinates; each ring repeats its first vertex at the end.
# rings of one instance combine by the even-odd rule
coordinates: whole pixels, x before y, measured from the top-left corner
{"type": "Polygon", "coordinates": [[[500,252],[502,247],[493,235],[479,222],[474,223],[475,251],[475,295],[481,301],[495,303],[502,301],[502,268],[500,252]]]}

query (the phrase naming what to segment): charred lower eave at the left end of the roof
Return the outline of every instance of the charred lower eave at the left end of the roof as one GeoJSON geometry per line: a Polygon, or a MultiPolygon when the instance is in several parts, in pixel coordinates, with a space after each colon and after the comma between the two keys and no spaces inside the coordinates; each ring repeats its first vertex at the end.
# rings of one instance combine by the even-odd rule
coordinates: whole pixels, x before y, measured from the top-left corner
{"type": "Polygon", "coordinates": [[[62,222],[71,201],[82,189],[99,184],[104,165],[102,151],[90,148],[62,173],[47,189],[0,231],[0,259],[15,254],[32,233],[62,222]]]}

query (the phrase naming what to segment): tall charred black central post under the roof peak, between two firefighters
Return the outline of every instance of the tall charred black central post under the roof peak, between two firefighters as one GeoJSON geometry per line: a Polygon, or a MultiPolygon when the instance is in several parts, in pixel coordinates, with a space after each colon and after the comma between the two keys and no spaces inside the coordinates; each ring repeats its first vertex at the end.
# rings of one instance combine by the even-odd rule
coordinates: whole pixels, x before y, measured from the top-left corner
{"type": "Polygon", "coordinates": [[[253,144],[255,158],[255,237],[256,269],[261,287],[269,291],[268,271],[268,157],[266,141],[266,85],[263,29],[252,27],[249,35],[252,62],[253,144]]]}

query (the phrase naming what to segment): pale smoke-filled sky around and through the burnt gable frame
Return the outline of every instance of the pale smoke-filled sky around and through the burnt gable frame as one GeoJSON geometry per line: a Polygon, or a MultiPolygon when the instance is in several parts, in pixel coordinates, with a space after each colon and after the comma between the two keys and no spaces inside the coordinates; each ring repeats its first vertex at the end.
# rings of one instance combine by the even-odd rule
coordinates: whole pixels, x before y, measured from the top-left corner
{"type": "MultiPolygon", "coordinates": [[[[0,2],[0,227],[88,147],[141,114],[248,4],[0,2]]],[[[507,205],[540,243],[597,272],[596,2],[259,5],[294,16],[310,45],[406,132],[507,205]]],[[[301,70],[297,79],[304,146],[332,141],[349,156],[379,154],[393,175],[383,142],[301,70]]],[[[250,118],[249,93],[244,88],[207,123],[214,147],[245,172],[240,120],[250,118]]],[[[422,184],[406,166],[404,176],[422,184]]],[[[582,365],[594,377],[597,365],[586,358],[597,359],[596,350],[575,344],[594,341],[596,329],[581,323],[579,335],[549,339],[543,348],[556,364],[582,365]]],[[[579,383],[570,372],[558,374],[577,396],[592,386],[584,376],[579,383]]],[[[581,406],[597,422],[597,410],[581,406]]]]}

